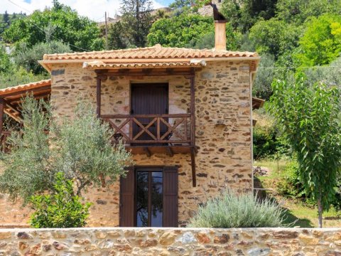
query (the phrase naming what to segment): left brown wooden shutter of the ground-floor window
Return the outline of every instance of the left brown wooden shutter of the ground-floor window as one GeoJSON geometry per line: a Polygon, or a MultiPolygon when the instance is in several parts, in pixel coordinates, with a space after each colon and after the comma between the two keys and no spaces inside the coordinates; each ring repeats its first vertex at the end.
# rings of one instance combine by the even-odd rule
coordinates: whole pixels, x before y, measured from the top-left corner
{"type": "Polygon", "coordinates": [[[119,186],[119,226],[134,227],[134,167],[127,168],[126,177],[120,178],[119,186]]]}

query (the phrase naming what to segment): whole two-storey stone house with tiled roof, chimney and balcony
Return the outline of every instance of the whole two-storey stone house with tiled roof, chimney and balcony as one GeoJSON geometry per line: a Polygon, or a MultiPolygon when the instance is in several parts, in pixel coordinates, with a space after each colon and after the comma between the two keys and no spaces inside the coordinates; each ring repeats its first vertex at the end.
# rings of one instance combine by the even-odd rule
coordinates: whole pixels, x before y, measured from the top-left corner
{"type": "Polygon", "coordinates": [[[20,122],[26,92],[50,97],[53,114],[67,117],[77,97],[89,97],[135,163],[111,188],[85,195],[94,202],[90,226],[185,225],[222,188],[252,191],[251,113],[262,101],[252,99],[251,85],[259,55],[224,50],[224,23],[215,24],[212,50],[156,45],[44,55],[50,80],[0,90],[1,144],[2,117],[20,122]]]}

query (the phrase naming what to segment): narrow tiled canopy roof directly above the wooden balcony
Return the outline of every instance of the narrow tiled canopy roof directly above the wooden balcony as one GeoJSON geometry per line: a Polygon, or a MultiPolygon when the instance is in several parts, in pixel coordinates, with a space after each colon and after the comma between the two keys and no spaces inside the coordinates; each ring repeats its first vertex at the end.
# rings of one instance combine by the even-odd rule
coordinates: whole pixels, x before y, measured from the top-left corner
{"type": "Polygon", "coordinates": [[[172,63],[104,63],[92,61],[83,63],[83,68],[169,68],[169,67],[202,67],[205,61],[182,61],[172,63]]]}

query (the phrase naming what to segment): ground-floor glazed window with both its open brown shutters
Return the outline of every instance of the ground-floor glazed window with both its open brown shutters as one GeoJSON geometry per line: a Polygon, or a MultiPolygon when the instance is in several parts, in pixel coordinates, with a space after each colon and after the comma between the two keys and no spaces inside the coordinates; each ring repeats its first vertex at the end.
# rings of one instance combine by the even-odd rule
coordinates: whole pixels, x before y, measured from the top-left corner
{"type": "Polygon", "coordinates": [[[121,227],[178,227],[178,167],[129,167],[119,206],[121,227]]]}

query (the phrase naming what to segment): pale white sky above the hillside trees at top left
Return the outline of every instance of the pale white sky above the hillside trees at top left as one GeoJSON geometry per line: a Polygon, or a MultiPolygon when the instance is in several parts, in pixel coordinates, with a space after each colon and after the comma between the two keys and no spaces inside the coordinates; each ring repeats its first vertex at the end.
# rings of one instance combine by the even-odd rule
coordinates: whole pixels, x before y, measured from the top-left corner
{"type": "MultiPolygon", "coordinates": [[[[60,3],[71,6],[78,14],[87,16],[93,21],[104,21],[104,12],[107,11],[113,17],[119,11],[120,0],[59,0],[60,3]]],[[[152,0],[153,7],[168,6],[172,0],[152,0]]],[[[31,14],[34,10],[43,10],[46,6],[52,6],[52,0],[0,0],[0,14],[7,11],[31,14]]]]}

